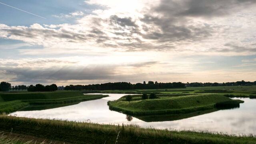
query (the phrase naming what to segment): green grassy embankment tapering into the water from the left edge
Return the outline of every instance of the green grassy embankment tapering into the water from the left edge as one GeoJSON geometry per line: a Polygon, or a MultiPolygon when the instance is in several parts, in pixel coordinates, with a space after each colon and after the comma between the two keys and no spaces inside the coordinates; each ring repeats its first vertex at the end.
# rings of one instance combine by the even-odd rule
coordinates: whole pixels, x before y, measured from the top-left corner
{"type": "Polygon", "coordinates": [[[0,93],[0,113],[9,113],[33,105],[65,104],[108,97],[107,95],[83,95],[79,91],[45,93],[0,93]]]}

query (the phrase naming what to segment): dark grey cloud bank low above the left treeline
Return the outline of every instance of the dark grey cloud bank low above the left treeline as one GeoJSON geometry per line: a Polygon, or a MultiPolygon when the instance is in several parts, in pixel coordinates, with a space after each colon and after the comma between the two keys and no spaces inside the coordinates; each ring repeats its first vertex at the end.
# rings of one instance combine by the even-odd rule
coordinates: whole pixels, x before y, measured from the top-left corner
{"type": "Polygon", "coordinates": [[[98,80],[110,79],[114,75],[111,69],[106,67],[63,67],[48,69],[30,69],[18,67],[0,68],[5,74],[16,75],[12,81],[38,81],[42,80],[98,80]]]}

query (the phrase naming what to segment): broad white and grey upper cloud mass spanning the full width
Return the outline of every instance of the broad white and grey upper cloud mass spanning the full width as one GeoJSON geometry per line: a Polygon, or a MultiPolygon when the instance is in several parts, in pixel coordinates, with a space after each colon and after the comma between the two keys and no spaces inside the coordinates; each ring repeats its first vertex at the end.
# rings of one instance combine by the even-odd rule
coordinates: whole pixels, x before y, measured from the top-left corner
{"type": "Polygon", "coordinates": [[[49,49],[58,53],[59,49],[256,53],[252,45],[256,42],[255,34],[250,31],[255,26],[248,24],[256,22],[256,18],[251,18],[255,10],[250,8],[256,4],[253,0],[89,0],[86,3],[99,5],[102,9],[90,14],[82,11],[67,14],[67,17],[79,16],[75,24],[33,24],[29,27],[1,24],[0,37],[43,45],[44,53],[49,49]],[[227,45],[235,41],[238,45],[227,45]]]}

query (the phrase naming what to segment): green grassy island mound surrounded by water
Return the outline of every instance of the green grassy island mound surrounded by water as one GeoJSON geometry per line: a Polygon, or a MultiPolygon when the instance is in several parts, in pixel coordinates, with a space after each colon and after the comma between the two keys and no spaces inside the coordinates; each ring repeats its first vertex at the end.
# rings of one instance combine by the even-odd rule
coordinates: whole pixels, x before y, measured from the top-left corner
{"type": "Polygon", "coordinates": [[[200,110],[215,108],[216,103],[222,106],[222,103],[229,102],[228,105],[239,105],[243,103],[240,100],[232,100],[220,94],[196,94],[184,96],[166,96],[158,95],[159,99],[138,100],[134,96],[134,101],[130,103],[122,97],[116,101],[109,101],[108,105],[111,110],[122,111],[126,114],[181,114],[190,113],[200,110]]]}

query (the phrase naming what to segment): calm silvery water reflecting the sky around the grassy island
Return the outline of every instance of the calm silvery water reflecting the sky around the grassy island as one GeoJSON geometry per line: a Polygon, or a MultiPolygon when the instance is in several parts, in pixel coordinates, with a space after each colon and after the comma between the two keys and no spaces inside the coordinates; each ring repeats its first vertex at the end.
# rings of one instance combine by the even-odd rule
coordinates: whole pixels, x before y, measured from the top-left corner
{"type": "Polygon", "coordinates": [[[240,104],[240,108],[228,110],[208,110],[201,113],[178,116],[142,116],[136,118],[120,112],[111,111],[108,108],[108,101],[119,99],[127,94],[104,95],[110,95],[110,97],[46,110],[18,111],[10,115],[28,118],[94,122],[99,124],[137,124],[142,127],[160,129],[208,130],[211,132],[223,132],[236,135],[256,134],[255,99],[241,98],[244,103],[240,104]]]}

